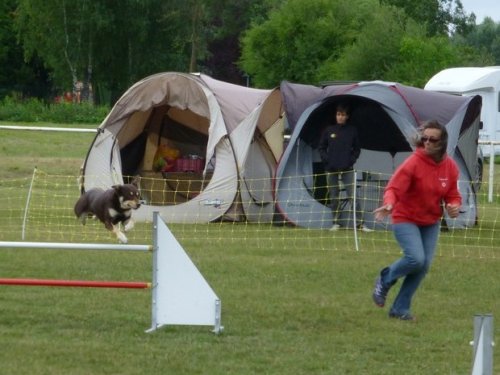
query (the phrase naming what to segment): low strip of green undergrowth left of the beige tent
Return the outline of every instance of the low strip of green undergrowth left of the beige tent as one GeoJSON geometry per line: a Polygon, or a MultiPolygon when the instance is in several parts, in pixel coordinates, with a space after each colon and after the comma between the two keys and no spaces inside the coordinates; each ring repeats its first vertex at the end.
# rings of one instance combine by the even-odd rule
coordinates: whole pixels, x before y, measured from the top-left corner
{"type": "Polygon", "coordinates": [[[10,96],[0,101],[0,121],[98,124],[108,112],[107,106],[89,103],[47,104],[39,99],[21,100],[10,96]]]}

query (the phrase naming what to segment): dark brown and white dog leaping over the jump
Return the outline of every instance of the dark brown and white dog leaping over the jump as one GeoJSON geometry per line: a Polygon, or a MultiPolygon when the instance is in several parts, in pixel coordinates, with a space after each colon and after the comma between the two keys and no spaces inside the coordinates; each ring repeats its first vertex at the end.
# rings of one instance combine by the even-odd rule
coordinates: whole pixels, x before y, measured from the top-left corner
{"type": "Polygon", "coordinates": [[[75,215],[82,224],[88,217],[97,217],[106,229],[116,235],[121,243],[128,239],[120,229],[123,224],[127,232],[134,227],[132,210],[141,206],[140,194],[134,184],[114,185],[111,189],[90,189],[83,193],[75,203],[75,215]]]}

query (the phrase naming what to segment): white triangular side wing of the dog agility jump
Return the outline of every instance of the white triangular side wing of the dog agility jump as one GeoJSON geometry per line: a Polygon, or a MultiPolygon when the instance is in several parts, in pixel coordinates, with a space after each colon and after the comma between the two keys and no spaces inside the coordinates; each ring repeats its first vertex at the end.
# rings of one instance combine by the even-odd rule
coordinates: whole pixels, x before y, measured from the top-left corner
{"type": "Polygon", "coordinates": [[[160,215],[153,217],[152,324],[221,326],[221,302],[160,215]]]}

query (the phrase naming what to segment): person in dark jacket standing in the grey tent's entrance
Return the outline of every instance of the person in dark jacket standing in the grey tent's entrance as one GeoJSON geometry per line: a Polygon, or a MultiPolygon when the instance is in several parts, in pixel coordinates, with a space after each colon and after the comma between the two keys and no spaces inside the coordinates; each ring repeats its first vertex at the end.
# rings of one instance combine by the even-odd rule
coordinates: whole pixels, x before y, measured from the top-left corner
{"type": "MultiPolygon", "coordinates": [[[[326,127],[319,141],[319,153],[327,173],[328,193],[332,204],[333,225],[330,230],[338,230],[340,225],[340,191],[341,182],[345,188],[347,199],[354,201],[356,181],[353,165],[361,153],[358,130],[349,123],[350,109],[345,104],[337,105],[335,123],[326,127]]],[[[363,225],[359,201],[356,201],[356,223],[358,227],[371,232],[363,225]]]]}

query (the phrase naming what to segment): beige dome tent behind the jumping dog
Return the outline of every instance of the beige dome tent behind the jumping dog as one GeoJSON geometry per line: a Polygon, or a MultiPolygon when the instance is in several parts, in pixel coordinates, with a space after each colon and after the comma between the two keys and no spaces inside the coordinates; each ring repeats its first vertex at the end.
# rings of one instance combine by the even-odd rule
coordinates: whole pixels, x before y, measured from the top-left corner
{"type": "Polygon", "coordinates": [[[147,77],[123,94],[99,126],[83,166],[83,188],[141,176],[145,204],[134,213],[136,220],[151,220],[154,211],[167,222],[271,220],[282,114],[278,89],[199,74],[147,77]],[[179,154],[172,170],[155,170],[159,148],[179,154]]]}

